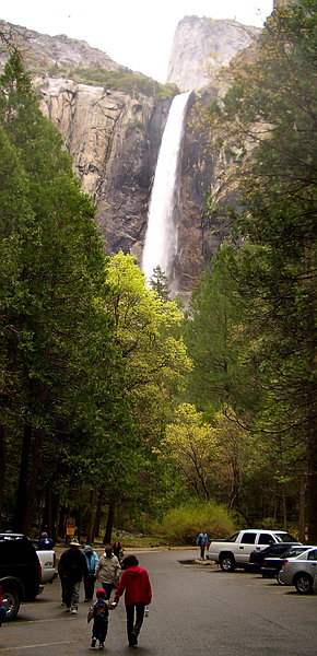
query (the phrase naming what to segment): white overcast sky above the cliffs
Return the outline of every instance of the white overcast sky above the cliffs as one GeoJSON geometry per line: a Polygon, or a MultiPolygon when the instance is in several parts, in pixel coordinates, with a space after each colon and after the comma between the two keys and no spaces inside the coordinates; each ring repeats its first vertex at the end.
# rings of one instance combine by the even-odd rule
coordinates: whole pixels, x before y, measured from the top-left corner
{"type": "Polygon", "coordinates": [[[83,39],[118,63],[165,82],[173,36],[185,15],[261,26],[272,8],[273,0],[8,0],[0,19],[83,39]]]}

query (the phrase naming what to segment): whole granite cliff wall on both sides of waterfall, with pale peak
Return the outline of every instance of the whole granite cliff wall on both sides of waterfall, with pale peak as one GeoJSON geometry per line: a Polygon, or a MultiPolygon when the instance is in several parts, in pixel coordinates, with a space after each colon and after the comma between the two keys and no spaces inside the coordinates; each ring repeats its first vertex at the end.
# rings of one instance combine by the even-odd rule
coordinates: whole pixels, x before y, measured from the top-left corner
{"type": "MultiPolygon", "coordinates": [[[[192,113],[198,96],[204,104],[224,92],[225,75],[219,77],[215,71],[250,40],[249,32],[236,23],[185,17],[177,28],[168,75],[181,89],[200,89],[206,81],[197,62],[207,57],[206,48],[210,51],[210,26],[216,42],[212,84],[191,94],[179,153],[176,272],[178,291],[185,301],[225,234],[225,226],[212,225],[204,212],[204,192],[218,185],[222,163],[206,149],[203,133],[192,131],[192,113]],[[214,227],[219,229],[218,234],[214,227]]],[[[9,32],[13,27],[5,24],[9,32]]],[[[78,68],[117,71],[121,67],[84,42],[31,31],[26,31],[25,42],[25,28],[14,31],[15,38],[23,38],[42,110],[60,130],[83,190],[96,203],[96,221],[107,251],[131,253],[140,263],[151,188],[172,99],[140,90],[124,93],[68,79],[66,72],[78,68]]],[[[1,61],[3,52],[0,65],[1,61]]]]}

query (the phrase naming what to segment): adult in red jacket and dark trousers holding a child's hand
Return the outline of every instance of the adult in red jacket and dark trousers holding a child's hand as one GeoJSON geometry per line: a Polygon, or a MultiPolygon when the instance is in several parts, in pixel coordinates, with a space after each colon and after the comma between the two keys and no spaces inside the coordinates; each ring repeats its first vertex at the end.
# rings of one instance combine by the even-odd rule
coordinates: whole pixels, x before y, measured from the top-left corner
{"type": "Polygon", "coordinates": [[[152,589],[148,571],[139,567],[136,555],[126,555],[121,562],[122,574],[115,593],[114,606],[125,593],[127,633],[130,647],[136,647],[143,624],[144,610],[151,604],[152,589]]]}

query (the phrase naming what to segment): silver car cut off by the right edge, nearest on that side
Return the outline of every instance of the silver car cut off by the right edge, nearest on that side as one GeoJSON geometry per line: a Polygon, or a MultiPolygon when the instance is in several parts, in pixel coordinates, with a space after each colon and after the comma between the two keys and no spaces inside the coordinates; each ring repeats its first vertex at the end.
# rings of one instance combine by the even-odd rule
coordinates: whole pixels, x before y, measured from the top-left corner
{"type": "Polygon", "coordinates": [[[296,558],[285,559],[278,578],[283,585],[294,585],[301,595],[307,595],[313,593],[316,572],[317,547],[313,547],[296,558]]]}

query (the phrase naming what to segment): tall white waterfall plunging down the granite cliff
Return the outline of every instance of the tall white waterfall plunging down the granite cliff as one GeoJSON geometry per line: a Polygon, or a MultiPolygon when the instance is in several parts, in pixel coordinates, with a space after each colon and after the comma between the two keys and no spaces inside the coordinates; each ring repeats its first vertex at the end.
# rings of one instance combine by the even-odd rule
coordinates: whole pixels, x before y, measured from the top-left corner
{"type": "Polygon", "coordinates": [[[173,266],[177,255],[178,225],[175,210],[178,204],[178,161],[184,131],[184,118],[191,92],[173,99],[158,153],[150,200],[142,269],[149,281],[157,266],[166,273],[175,290],[173,266]]]}

